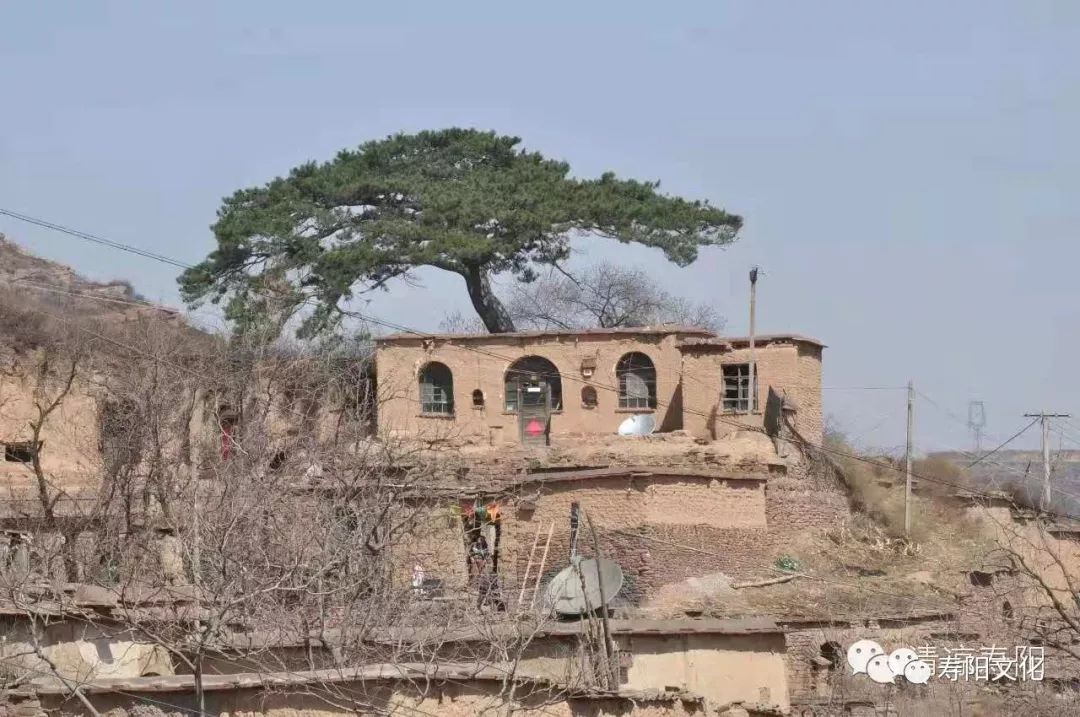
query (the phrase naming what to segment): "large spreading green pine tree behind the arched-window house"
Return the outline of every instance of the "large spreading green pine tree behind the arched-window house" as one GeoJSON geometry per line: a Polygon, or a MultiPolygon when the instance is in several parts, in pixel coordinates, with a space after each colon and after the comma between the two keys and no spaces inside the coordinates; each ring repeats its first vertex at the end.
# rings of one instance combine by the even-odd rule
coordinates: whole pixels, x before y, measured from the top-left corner
{"type": "Polygon", "coordinates": [[[357,294],[418,267],[464,279],[488,330],[514,330],[490,286],[569,256],[570,241],[608,236],[686,266],[701,246],[734,241],[739,216],[669,197],[659,182],[570,176],[567,163],[494,132],[450,128],[368,141],[227,198],[217,247],[180,276],[190,305],[224,302],[238,329],[301,309],[301,336],[334,328],[357,294]]]}

